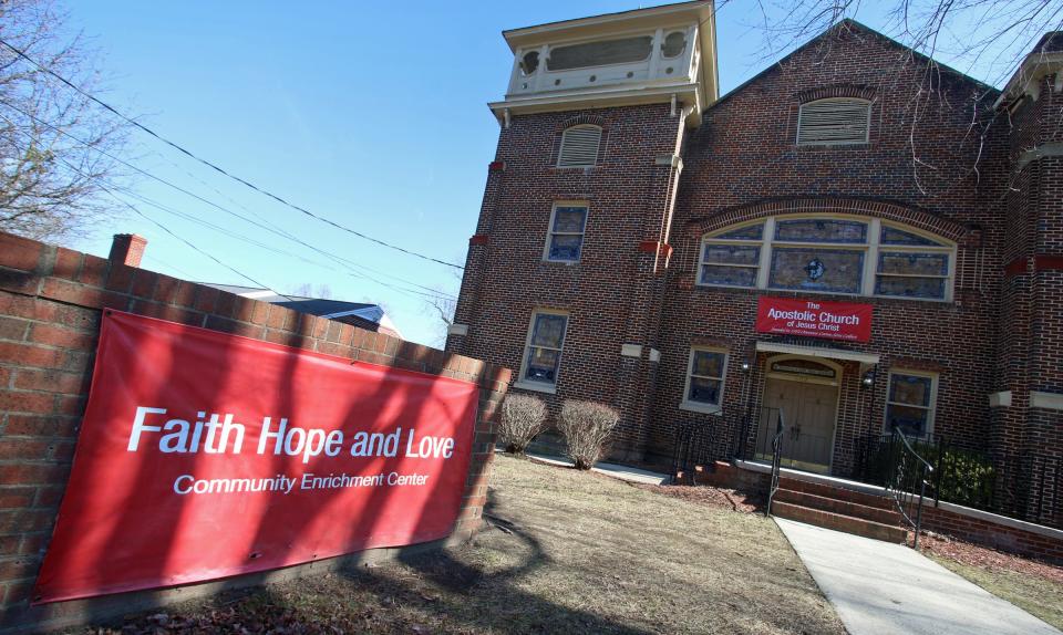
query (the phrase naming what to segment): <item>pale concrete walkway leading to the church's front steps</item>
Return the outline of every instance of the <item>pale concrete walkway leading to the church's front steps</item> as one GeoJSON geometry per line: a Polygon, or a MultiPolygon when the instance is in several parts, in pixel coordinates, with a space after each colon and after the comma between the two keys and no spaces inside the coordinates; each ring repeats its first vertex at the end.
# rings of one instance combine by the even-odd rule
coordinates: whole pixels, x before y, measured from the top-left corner
{"type": "Polygon", "coordinates": [[[850,635],[1060,635],[902,544],[775,519],[850,635]]]}

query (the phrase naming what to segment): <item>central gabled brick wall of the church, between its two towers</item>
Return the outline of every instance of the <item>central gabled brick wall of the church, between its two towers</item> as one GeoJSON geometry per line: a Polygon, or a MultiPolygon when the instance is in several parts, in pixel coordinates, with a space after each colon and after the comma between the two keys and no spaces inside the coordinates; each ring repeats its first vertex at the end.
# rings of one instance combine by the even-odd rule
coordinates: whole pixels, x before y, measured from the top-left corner
{"type": "MultiPolygon", "coordinates": [[[[961,445],[985,447],[985,395],[992,386],[997,352],[994,248],[1003,240],[1003,227],[1000,207],[991,202],[1000,191],[998,181],[980,179],[972,169],[979,145],[969,138],[969,127],[972,118],[987,125],[995,94],[945,72],[933,85],[932,97],[920,101],[915,93],[927,87],[926,63],[899,61],[898,53],[895,44],[874,33],[843,28],[724,97],[706,111],[704,125],[688,139],[664,306],[668,327],[661,333],[663,356],[654,405],[659,416],[650,431],[650,451],[658,459],[671,451],[673,427],[681,421],[712,426],[715,458],[731,456],[737,435],[745,426],[753,427],[750,421],[760,410],[766,360],[754,354],[757,341],[880,356],[870,388],[860,383],[859,365],[844,366],[833,473],[850,473],[859,440],[883,430],[890,368],[939,373],[936,433],[961,445]],[[801,103],[829,96],[871,101],[868,144],[795,145],[801,103]],[[932,169],[917,167],[915,155],[932,169]],[[953,301],[696,287],[704,233],[755,218],[807,212],[877,217],[957,242],[953,301]],[[870,303],[871,340],[847,344],[757,334],[753,324],[762,294],[870,303]],[[962,343],[953,336],[958,332],[966,334],[962,343]],[[677,409],[689,351],[698,337],[726,342],[730,350],[722,415],[677,409]],[[752,368],[743,371],[741,362],[750,362],[752,368]]],[[[985,143],[1000,145],[1001,134],[990,127],[985,143]]],[[[999,171],[1002,160],[1000,155],[983,156],[979,170],[999,171]]]]}

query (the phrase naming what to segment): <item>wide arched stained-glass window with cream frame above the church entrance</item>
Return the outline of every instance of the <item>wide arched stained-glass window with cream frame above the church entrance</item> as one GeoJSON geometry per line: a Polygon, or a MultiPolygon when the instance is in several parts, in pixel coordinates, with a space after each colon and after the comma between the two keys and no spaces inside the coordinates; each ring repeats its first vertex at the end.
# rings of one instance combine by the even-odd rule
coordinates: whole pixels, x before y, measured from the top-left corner
{"type": "Polygon", "coordinates": [[[777,216],[706,235],[696,283],[950,300],[956,244],[878,218],[777,216]]]}

